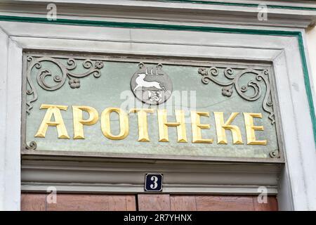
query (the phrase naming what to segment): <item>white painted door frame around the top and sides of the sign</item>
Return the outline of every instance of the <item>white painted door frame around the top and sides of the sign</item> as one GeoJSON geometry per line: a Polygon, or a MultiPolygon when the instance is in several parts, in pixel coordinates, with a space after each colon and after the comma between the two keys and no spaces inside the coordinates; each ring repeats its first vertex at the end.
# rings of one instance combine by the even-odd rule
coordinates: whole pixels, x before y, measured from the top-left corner
{"type": "Polygon", "coordinates": [[[286,159],[284,176],[279,183],[279,209],[316,209],[315,143],[296,37],[11,22],[1,22],[0,26],[9,37],[1,34],[1,46],[8,49],[8,56],[3,51],[4,60],[1,61],[4,63],[1,69],[8,68],[7,72],[4,71],[7,76],[1,77],[4,82],[0,83],[1,91],[4,92],[0,98],[4,98],[6,105],[0,108],[1,115],[4,115],[0,120],[6,124],[6,127],[0,129],[1,146],[6,146],[5,151],[1,152],[5,167],[0,174],[1,188],[5,190],[4,194],[1,191],[1,196],[7,197],[1,197],[4,209],[18,210],[19,205],[17,196],[20,195],[20,172],[17,170],[20,169],[20,123],[17,121],[20,121],[22,49],[160,54],[272,62],[286,159]],[[157,37],[160,43],[157,43],[157,37]],[[16,43],[13,44],[12,41],[16,43]],[[11,172],[14,175],[8,176],[11,172]],[[8,187],[12,193],[6,193],[8,187]],[[11,204],[6,203],[6,200],[12,200],[11,204]]]}

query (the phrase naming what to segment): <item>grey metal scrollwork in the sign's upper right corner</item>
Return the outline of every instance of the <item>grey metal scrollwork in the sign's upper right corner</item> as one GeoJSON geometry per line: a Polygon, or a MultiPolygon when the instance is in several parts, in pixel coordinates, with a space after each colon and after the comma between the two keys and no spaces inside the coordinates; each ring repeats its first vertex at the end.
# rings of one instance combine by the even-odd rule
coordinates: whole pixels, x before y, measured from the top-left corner
{"type": "Polygon", "coordinates": [[[265,96],[263,98],[262,107],[265,112],[269,113],[269,119],[271,120],[271,124],[275,123],[275,113],[272,108],[272,100],[271,100],[271,89],[268,78],[268,70],[254,70],[254,69],[245,69],[237,72],[232,68],[225,68],[223,71],[223,75],[228,82],[222,82],[215,77],[217,77],[220,73],[220,70],[216,67],[211,68],[199,68],[199,74],[202,75],[202,83],[209,84],[210,81],[214,82],[222,86],[222,94],[223,96],[230,97],[234,92],[234,88],[239,96],[244,98],[246,101],[256,101],[261,97],[262,88],[260,82],[263,81],[265,84],[265,96]],[[234,75],[235,74],[235,75],[234,75]],[[246,85],[240,86],[239,81],[240,78],[244,75],[254,75],[255,79],[251,79],[246,85]],[[249,95],[249,88],[253,90],[253,93],[249,95]],[[248,93],[248,94],[247,94],[248,93]]]}

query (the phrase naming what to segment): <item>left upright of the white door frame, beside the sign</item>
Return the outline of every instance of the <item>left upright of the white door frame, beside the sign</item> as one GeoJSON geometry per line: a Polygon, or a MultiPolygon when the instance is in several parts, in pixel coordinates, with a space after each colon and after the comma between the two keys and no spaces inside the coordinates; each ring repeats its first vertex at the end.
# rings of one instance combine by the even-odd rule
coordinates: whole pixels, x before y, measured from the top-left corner
{"type": "Polygon", "coordinates": [[[0,210],[20,210],[22,49],[0,30],[0,210]]]}

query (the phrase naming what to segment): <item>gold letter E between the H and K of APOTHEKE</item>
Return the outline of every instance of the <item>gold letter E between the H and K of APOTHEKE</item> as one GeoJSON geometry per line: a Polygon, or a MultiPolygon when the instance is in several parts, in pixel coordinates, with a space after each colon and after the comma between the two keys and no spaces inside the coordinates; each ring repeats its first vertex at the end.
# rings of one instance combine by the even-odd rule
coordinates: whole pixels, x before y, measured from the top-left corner
{"type": "Polygon", "coordinates": [[[209,124],[201,124],[200,117],[209,117],[209,112],[191,111],[192,143],[213,143],[213,139],[202,139],[201,129],[209,129],[209,124]]]}

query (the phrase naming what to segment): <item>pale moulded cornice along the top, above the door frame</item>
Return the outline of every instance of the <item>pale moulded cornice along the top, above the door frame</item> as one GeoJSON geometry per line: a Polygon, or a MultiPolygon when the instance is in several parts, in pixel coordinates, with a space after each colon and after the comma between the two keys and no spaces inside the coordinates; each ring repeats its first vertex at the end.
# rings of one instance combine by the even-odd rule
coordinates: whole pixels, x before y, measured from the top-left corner
{"type": "Polygon", "coordinates": [[[185,21],[265,27],[308,27],[316,21],[316,4],[271,1],[25,1],[11,0],[0,4],[1,15],[46,17],[48,4],[57,6],[58,18],[78,20],[129,20],[135,23],[185,21]],[[258,20],[258,4],[268,6],[268,20],[258,20]],[[276,7],[279,6],[279,7],[276,7]],[[315,9],[315,10],[314,10],[315,9]]]}

